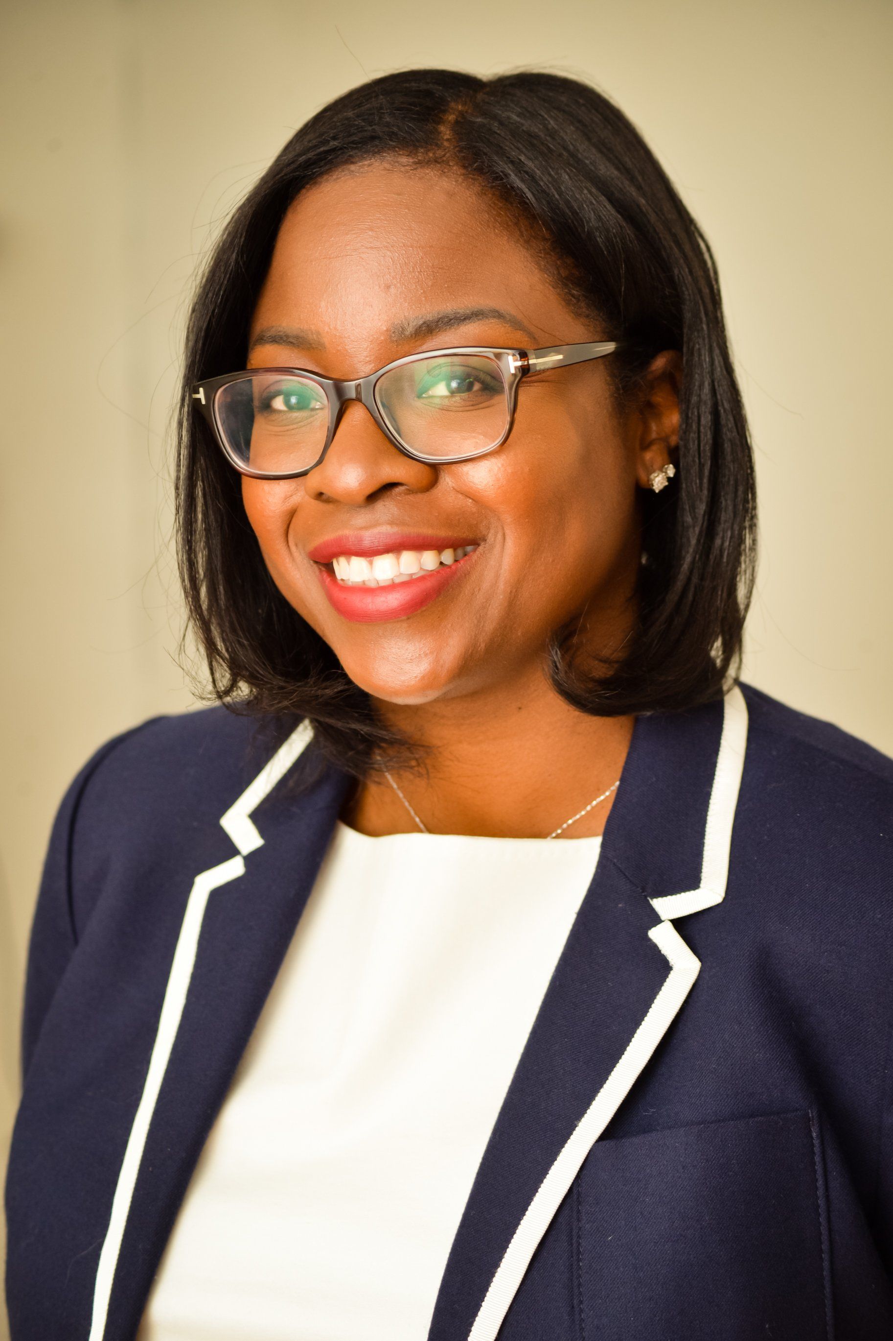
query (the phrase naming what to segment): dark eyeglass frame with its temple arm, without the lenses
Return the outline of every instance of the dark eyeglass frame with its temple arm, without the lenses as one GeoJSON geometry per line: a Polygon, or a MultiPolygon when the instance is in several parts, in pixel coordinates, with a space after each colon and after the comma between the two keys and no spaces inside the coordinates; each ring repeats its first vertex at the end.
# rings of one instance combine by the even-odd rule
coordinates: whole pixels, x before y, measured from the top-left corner
{"type": "Polygon", "coordinates": [[[545,373],[550,367],[570,367],[573,363],[586,363],[594,358],[604,358],[606,354],[613,354],[616,349],[619,349],[617,341],[597,341],[594,343],[584,345],[550,345],[545,349],[530,350],[501,349],[491,345],[461,345],[451,349],[426,349],[419,354],[407,354],[404,358],[396,358],[394,362],[386,363],[384,367],[379,367],[375,373],[368,373],[366,377],[357,377],[347,382],[336,381],[331,377],[320,377],[319,373],[311,373],[304,367],[252,367],[242,373],[226,373],[224,377],[212,377],[204,382],[195,382],[191,389],[191,398],[193,401],[198,401],[198,409],[212,426],[214,437],[224,449],[224,455],[230,465],[234,465],[240,475],[249,475],[256,480],[295,480],[300,479],[303,475],[309,475],[311,471],[316,469],[332,445],[332,439],[337,430],[339,421],[349,401],[360,401],[366,405],[367,410],[387,440],[392,443],[399,452],[403,452],[404,456],[408,456],[415,461],[424,461],[428,465],[450,465],[455,461],[471,461],[478,456],[486,456],[489,452],[495,452],[498,447],[502,447],[514,425],[518,385],[522,378],[530,377],[533,373],[545,373]],[[478,452],[466,452],[461,456],[426,456],[423,452],[416,452],[411,448],[408,443],[404,443],[399,434],[394,432],[390,424],[386,422],[375,397],[375,388],[379,378],[384,377],[384,374],[390,373],[394,367],[402,367],[406,363],[418,363],[424,358],[438,358],[443,354],[483,354],[490,355],[499,365],[506,388],[509,417],[506,430],[498,443],[481,448],[478,452]],[[216,401],[221,388],[229,386],[230,382],[240,382],[249,377],[257,377],[262,373],[291,373],[296,377],[301,377],[304,381],[313,382],[325,396],[329,412],[325,443],[323,444],[320,455],[313,464],[304,467],[301,471],[253,471],[244,461],[238,460],[238,457],[229,448],[226,437],[218,422],[216,401]]]}

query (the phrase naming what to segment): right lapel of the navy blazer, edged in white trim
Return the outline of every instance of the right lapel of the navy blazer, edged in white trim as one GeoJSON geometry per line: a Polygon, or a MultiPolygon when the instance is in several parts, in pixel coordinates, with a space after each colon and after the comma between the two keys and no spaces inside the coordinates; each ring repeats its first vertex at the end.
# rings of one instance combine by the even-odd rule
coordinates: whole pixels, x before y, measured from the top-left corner
{"type": "Polygon", "coordinates": [[[640,717],[584,898],[497,1118],[428,1341],[494,1341],[536,1248],[688,995],[669,919],[722,900],[744,756],[739,689],[640,717]]]}

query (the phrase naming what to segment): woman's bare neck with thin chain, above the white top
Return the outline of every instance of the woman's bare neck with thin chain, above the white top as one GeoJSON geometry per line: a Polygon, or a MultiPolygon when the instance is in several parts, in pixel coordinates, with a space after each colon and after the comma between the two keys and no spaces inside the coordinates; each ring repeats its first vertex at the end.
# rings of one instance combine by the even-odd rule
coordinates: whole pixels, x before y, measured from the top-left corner
{"type": "MultiPolygon", "coordinates": [[[[545,838],[620,776],[633,719],[590,717],[565,703],[537,666],[510,685],[420,707],[376,704],[422,743],[420,770],[394,772],[431,833],[545,838]]],[[[600,834],[613,794],[562,837],[600,834]]],[[[368,834],[416,826],[383,778],[356,799],[351,822],[368,834]]]]}

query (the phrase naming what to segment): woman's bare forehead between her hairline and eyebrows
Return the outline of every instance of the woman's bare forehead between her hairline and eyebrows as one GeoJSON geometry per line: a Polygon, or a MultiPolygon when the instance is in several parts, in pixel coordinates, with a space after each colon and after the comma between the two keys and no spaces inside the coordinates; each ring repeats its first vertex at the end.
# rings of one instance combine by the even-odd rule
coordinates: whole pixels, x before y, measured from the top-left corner
{"type": "Polygon", "coordinates": [[[509,310],[544,334],[568,314],[523,231],[482,189],[375,164],[323,178],[289,208],[252,333],[299,327],[331,349],[390,355],[402,322],[463,307],[509,310]]]}

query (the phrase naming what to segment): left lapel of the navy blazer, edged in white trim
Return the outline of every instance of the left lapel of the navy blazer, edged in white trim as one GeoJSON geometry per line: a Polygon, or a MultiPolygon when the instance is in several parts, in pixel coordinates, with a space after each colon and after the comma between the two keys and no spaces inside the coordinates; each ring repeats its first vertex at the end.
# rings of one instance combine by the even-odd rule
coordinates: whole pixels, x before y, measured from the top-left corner
{"type": "Polygon", "coordinates": [[[272,798],[308,744],[299,727],[221,818],[237,852],[197,872],[94,1287],[90,1341],[133,1337],[210,1126],[273,986],[348,779],[272,798]],[[257,819],[257,823],[256,823],[257,819]]]}

